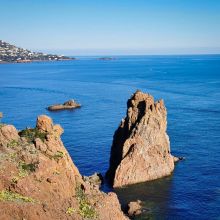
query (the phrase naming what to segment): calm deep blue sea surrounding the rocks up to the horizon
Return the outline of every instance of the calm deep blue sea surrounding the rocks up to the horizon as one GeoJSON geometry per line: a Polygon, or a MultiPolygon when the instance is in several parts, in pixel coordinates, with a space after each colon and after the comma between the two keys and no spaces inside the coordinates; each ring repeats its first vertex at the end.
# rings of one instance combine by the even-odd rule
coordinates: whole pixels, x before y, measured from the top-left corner
{"type": "Polygon", "coordinates": [[[117,190],[122,204],[144,201],[139,219],[220,219],[220,56],[0,65],[3,121],[23,129],[49,115],[64,127],[63,142],[84,175],[106,172],[113,133],[136,89],[164,99],[172,153],[186,160],[171,177],[117,190]],[[45,109],[71,98],[83,107],[45,109]]]}

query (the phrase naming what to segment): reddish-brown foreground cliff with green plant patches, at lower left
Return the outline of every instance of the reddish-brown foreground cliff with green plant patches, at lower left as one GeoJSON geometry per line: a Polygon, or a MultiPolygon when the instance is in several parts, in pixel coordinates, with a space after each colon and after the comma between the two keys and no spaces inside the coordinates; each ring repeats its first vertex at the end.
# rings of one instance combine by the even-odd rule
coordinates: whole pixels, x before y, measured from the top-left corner
{"type": "Polygon", "coordinates": [[[0,219],[127,219],[115,193],[86,183],[47,116],[18,132],[0,127],[0,219]]]}

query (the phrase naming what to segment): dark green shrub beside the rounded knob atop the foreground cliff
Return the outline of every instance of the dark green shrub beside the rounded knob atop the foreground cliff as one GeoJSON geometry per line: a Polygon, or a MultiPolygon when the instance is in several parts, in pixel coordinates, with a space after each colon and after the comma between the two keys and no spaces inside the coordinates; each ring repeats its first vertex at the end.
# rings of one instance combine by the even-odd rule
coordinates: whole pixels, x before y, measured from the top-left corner
{"type": "Polygon", "coordinates": [[[19,132],[21,137],[25,137],[28,142],[34,142],[36,138],[40,138],[42,141],[46,139],[46,132],[42,132],[37,128],[27,128],[19,132]]]}

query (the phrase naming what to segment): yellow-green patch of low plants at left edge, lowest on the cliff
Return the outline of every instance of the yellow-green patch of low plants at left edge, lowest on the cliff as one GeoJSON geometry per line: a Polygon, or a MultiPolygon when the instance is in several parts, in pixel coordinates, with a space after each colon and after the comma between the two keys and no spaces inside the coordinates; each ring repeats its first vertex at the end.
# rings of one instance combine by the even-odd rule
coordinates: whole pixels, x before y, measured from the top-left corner
{"type": "Polygon", "coordinates": [[[36,201],[30,197],[22,196],[18,193],[14,193],[8,190],[0,191],[0,201],[10,201],[10,202],[31,202],[36,201]]]}

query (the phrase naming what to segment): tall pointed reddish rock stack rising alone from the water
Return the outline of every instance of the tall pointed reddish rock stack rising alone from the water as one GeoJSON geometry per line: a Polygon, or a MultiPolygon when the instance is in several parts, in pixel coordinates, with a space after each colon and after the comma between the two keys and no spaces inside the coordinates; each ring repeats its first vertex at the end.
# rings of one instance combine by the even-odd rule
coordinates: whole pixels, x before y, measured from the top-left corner
{"type": "Polygon", "coordinates": [[[106,174],[113,187],[170,175],[174,159],[166,133],[167,111],[163,100],[135,92],[127,102],[127,115],[116,130],[106,174]]]}

